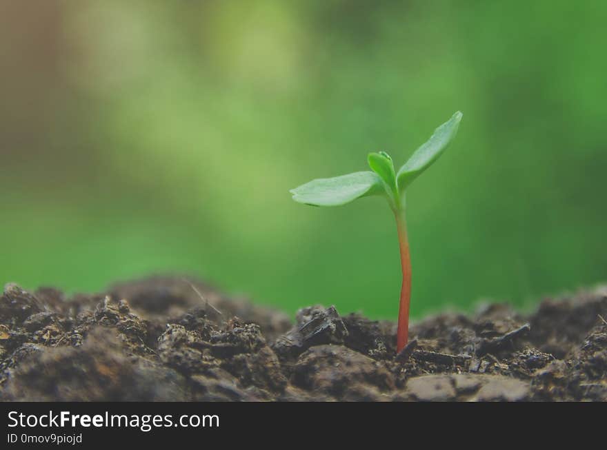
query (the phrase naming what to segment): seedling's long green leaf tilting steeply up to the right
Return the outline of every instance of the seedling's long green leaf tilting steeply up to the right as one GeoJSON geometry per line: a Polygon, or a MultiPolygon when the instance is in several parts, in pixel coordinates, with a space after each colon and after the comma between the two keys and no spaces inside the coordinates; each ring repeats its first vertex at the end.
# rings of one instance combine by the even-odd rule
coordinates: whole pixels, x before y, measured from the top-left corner
{"type": "Polygon", "coordinates": [[[461,116],[462,114],[459,111],[453,114],[451,119],[439,126],[430,136],[430,139],[415,150],[409,161],[400,168],[397,181],[401,191],[441,156],[449,143],[455,138],[461,116]]]}

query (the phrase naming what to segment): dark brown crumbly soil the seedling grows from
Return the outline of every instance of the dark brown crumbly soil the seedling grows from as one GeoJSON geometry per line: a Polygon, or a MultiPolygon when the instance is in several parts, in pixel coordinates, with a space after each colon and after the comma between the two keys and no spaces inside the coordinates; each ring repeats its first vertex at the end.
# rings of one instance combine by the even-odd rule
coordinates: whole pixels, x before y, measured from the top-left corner
{"type": "Polygon", "coordinates": [[[295,324],[203,283],[95,295],[7,285],[0,400],[607,400],[607,288],[412,325],[312,306],[295,324]],[[196,290],[198,292],[196,292],[196,290]]]}

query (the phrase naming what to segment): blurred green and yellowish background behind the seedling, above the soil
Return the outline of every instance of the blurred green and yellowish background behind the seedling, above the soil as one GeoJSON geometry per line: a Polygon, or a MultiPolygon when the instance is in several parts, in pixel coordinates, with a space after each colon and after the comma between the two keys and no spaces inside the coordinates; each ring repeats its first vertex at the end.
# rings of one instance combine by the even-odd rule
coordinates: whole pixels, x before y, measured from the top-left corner
{"type": "Polygon", "coordinates": [[[607,278],[607,2],[0,1],[0,282],[199,276],[395,318],[383,201],[288,190],[404,163],[412,314],[607,278]]]}

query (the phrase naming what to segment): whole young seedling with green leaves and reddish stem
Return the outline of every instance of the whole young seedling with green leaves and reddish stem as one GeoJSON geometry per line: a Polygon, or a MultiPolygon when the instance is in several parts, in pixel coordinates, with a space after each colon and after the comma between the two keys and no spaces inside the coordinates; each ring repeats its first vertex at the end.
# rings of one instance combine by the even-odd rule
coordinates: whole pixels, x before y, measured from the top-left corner
{"type": "Polygon", "coordinates": [[[355,172],[335,178],[319,178],[291,190],[293,200],[312,206],[339,206],[357,198],[379,195],[388,200],[396,218],[403,284],[399,305],[397,327],[397,352],[408,340],[409,306],[411,300],[411,260],[405,220],[405,191],[415,178],[428,169],[455,138],[461,112],[439,126],[424,145],[421,145],[409,160],[394,170],[392,158],[386,152],[370,153],[368,163],[372,172],[355,172]]]}

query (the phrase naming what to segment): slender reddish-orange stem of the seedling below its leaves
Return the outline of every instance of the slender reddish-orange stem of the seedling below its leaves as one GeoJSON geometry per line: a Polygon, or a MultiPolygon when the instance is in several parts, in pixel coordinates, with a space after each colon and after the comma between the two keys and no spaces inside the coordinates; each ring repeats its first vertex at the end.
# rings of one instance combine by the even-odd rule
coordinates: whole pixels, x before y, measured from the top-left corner
{"type": "Polygon", "coordinates": [[[397,353],[407,345],[409,337],[409,306],[411,303],[411,258],[409,256],[409,241],[407,239],[407,223],[404,211],[397,212],[396,224],[401,249],[401,268],[403,270],[403,284],[401,287],[401,300],[399,304],[399,320],[397,327],[396,351],[397,353]]]}

